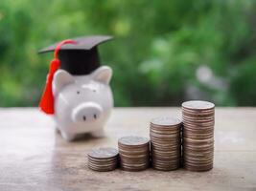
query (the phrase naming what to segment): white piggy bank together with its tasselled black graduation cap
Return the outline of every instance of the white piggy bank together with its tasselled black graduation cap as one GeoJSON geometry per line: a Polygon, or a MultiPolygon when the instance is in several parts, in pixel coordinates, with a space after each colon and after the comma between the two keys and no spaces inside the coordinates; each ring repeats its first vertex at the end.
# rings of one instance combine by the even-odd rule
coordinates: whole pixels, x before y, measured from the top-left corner
{"type": "Polygon", "coordinates": [[[109,87],[112,69],[101,66],[97,46],[110,39],[110,36],[79,37],[69,41],[72,44],[60,42],[39,51],[55,52],[56,56],[39,107],[53,115],[58,131],[66,140],[87,133],[104,136],[105,122],[113,108],[109,87]],[[56,60],[59,66],[51,73],[56,60]]]}

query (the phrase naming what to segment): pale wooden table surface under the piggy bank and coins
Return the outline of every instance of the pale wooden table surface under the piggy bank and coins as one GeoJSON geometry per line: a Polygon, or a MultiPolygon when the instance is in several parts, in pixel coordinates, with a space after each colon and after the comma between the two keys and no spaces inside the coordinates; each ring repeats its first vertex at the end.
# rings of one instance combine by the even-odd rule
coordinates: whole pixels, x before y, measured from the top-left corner
{"type": "Polygon", "coordinates": [[[0,109],[0,190],[256,190],[256,108],[217,108],[211,171],[93,172],[86,153],[117,147],[128,135],[149,137],[152,117],[181,116],[179,108],[116,108],[105,138],[66,142],[51,117],[35,108],[0,109]]]}

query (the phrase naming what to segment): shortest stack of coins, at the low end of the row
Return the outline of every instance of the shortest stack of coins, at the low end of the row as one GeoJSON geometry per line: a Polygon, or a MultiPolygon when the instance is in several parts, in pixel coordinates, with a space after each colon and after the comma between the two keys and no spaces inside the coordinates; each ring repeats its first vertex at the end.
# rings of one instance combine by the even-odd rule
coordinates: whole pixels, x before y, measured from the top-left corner
{"type": "Polygon", "coordinates": [[[111,171],[118,164],[118,151],[114,148],[96,148],[88,153],[88,167],[95,171],[111,171]]]}

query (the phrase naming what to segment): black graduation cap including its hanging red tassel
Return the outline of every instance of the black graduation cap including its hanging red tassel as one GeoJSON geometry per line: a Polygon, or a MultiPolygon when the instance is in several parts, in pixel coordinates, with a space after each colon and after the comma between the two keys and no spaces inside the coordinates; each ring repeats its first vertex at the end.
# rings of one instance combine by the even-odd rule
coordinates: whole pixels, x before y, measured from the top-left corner
{"type": "Polygon", "coordinates": [[[111,36],[77,37],[63,40],[38,52],[55,52],[47,74],[44,92],[39,102],[39,108],[44,113],[50,115],[55,113],[52,82],[56,71],[60,68],[70,74],[90,74],[100,66],[97,46],[110,39],[112,39],[111,36]]]}

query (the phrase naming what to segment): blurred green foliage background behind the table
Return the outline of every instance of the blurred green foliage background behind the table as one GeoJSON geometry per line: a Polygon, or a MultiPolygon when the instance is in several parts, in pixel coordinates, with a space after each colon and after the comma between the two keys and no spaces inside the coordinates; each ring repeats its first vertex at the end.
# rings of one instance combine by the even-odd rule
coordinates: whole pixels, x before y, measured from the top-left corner
{"type": "Polygon", "coordinates": [[[52,54],[81,35],[113,68],[116,106],[172,106],[206,99],[256,106],[254,0],[1,0],[0,106],[36,106],[52,54]]]}

